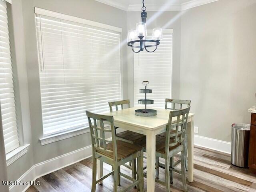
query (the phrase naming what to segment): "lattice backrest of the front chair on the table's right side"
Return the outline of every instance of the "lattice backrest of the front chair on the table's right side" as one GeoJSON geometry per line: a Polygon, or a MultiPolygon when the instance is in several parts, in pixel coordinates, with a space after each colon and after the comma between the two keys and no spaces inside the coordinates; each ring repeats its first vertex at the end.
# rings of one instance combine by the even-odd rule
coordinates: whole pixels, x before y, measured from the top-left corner
{"type": "Polygon", "coordinates": [[[166,153],[169,152],[169,147],[177,144],[184,145],[189,110],[190,106],[182,110],[170,111],[168,125],[166,126],[166,153]],[[175,129],[176,132],[171,134],[172,129],[175,129]],[[172,143],[170,143],[170,137],[173,139],[172,143]]]}

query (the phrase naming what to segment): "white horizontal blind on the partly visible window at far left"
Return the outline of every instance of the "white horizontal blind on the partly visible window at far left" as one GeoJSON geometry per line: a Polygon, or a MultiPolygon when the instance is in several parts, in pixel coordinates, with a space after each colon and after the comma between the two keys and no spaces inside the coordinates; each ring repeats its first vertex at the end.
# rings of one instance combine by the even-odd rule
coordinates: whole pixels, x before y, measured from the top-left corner
{"type": "Polygon", "coordinates": [[[5,152],[20,146],[18,140],[12,59],[8,31],[6,2],[0,1],[0,102],[4,129],[5,152]]]}

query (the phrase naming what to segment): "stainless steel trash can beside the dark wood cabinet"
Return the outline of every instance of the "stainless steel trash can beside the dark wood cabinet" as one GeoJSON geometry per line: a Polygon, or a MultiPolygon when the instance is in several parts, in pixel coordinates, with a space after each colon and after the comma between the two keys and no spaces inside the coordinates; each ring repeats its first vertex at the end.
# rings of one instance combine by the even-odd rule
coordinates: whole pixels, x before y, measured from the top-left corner
{"type": "Polygon", "coordinates": [[[232,124],[231,164],[247,168],[250,139],[250,125],[243,123],[232,124]]]}

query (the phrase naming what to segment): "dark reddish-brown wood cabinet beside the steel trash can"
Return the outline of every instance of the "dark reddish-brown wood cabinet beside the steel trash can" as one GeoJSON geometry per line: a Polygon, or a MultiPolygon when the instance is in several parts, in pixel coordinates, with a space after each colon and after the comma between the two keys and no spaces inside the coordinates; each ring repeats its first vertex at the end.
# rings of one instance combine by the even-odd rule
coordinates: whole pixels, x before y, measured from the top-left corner
{"type": "Polygon", "coordinates": [[[256,173],[256,113],[252,113],[251,117],[248,166],[252,172],[256,173]]]}

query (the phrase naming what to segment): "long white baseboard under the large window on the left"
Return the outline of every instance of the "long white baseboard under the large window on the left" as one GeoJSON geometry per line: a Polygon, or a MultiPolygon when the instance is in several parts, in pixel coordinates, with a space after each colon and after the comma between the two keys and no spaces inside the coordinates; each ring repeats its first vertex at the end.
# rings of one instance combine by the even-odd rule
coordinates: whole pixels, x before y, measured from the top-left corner
{"type": "MultiPolygon", "coordinates": [[[[92,146],[86,146],[70,153],[46,160],[38,163],[27,170],[17,182],[34,181],[46,174],[62,169],[66,166],[72,165],[83,159],[92,156],[92,146]]],[[[25,192],[30,185],[12,185],[10,186],[10,192],[25,192]]]]}

